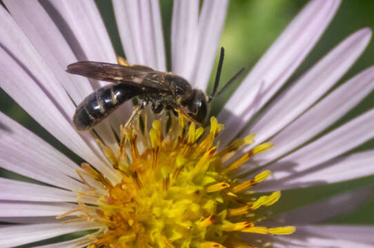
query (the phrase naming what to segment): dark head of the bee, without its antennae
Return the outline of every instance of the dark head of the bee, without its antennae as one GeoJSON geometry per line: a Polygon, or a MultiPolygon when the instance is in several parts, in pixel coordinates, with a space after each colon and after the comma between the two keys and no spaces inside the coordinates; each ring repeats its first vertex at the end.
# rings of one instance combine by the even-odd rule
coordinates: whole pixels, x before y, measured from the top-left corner
{"type": "Polygon", "coordinates": [[[190,116],[199,123],[204,123],[209,112],[208,98],[201,90],[193,90],[193,97],[186,103],[190,116]]]}

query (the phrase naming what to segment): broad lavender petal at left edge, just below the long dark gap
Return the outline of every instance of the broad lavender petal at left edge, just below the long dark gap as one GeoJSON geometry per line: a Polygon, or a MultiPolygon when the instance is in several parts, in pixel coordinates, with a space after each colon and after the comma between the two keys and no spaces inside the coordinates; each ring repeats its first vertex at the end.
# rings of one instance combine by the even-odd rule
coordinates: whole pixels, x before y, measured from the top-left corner
{"type": "Polygon", "coordinates": [[[70,178],[78,178],[79,168],[70,159],[2,113],[0,123],[1,167],[66,189],[83,187],[70,178]]]}

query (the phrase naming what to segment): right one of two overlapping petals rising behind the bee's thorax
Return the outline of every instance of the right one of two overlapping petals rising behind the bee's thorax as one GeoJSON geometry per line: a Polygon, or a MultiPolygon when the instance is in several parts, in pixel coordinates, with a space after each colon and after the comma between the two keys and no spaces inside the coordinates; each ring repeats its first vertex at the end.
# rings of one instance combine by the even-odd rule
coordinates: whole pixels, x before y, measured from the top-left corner
{"type": "MultiPolygon", "coordinates": [[[[222,28],[226,19],[227,0],[206,0],[201,8],[197,27],[197,39],[192,39],[191,54],[186,56],[182,68],[186,68],[186,79],[194,87],[206,90],[222,28]]],[[[193,23],[192,23],[193,24],[193,23]]],[[[176,52],[179,52],[176,51],[176,52]]],[[[189,51],[188,51],[189,52],[189,51]]]]}

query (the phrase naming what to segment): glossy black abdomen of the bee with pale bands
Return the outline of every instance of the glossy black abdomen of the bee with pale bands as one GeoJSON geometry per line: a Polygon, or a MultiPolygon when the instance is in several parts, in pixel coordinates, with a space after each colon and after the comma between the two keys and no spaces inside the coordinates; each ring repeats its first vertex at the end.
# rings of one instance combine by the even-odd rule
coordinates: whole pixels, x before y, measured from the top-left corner
{"type": "Polygon", "coordinates": [[[119,105],[139,94],[139,87],[132,85],[105,85],[83,99],[77,106],[72,121],[78,130],[87,130],[115,111],[119,105]]]}

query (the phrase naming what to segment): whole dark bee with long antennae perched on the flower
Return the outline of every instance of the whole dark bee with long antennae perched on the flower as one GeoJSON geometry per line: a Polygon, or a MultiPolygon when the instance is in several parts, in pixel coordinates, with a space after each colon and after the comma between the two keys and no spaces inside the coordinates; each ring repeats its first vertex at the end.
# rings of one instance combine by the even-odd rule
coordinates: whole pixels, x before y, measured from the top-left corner
{"type": "Polygon", "coordinates": [[[119,105],[137,97],[140,103],[126,126],[135,122],[139,111],[146,105],[150,105],[155,114],[164,109],[171,110],[174,114],[182,114],[189,121],[201,125],[208,116],[213,97],[223,92],[244,70],[242,68],[217,92],[223,60],[224,48],[221,48],[213,93],[210,96],[193,89],[186,79],[177,74],[158,72],[145,65],[126,66],[94,61],[72,63],[68,65],[67,72],[112,83],[86,96],[77,105],[72,121],[77,130],[88,130],[104,120],[119,105]]]}

